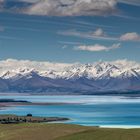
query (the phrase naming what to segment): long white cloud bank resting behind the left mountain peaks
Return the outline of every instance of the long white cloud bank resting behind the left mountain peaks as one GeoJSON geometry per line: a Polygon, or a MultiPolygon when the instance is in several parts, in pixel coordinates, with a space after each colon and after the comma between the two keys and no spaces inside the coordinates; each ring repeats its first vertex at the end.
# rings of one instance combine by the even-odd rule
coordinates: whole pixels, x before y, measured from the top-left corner
{"type": "Polygon", "coordinates": [[[65,67],[71,66],[68,63],[55,63],[55,62],[42,62],[42,61],[30,61],[30,60],[16,60],[7,59],[0,61],[0,73],[8,70],[20,71],[23,69],[35,69],[37,71],[46,70],[63,70],[65,67]]]}

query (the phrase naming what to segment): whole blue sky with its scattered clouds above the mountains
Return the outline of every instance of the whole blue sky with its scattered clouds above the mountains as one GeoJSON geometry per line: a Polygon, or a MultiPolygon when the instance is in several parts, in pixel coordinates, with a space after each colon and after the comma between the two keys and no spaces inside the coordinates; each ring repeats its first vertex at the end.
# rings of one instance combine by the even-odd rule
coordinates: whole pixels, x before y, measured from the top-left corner
{"type": "Polygon", "coordinates": [[[140,62],[139,0],[0,0],[0,60],[140,62]]]}

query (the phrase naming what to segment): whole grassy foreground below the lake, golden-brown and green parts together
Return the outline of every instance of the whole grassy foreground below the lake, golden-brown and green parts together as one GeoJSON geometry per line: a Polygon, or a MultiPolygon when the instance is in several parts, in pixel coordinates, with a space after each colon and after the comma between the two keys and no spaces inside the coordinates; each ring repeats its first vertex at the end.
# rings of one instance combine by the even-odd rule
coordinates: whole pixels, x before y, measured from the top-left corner
{"type": "Polygon", "coordinates": [[[65,124],[1,124],[0,140],[140,140],[140,129],[103,129],[65,124]]]}

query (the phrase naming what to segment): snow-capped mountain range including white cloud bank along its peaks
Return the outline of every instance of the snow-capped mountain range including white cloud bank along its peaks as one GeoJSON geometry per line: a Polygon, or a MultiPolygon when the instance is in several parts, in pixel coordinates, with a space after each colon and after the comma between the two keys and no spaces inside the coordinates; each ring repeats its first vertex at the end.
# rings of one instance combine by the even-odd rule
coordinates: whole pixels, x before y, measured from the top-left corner
{"type": "Polygon", "coordinates": [[[140,64],[127,60],[64,64],[8,59],[0,61],[0,91],[140,91],[140,64]]]}

